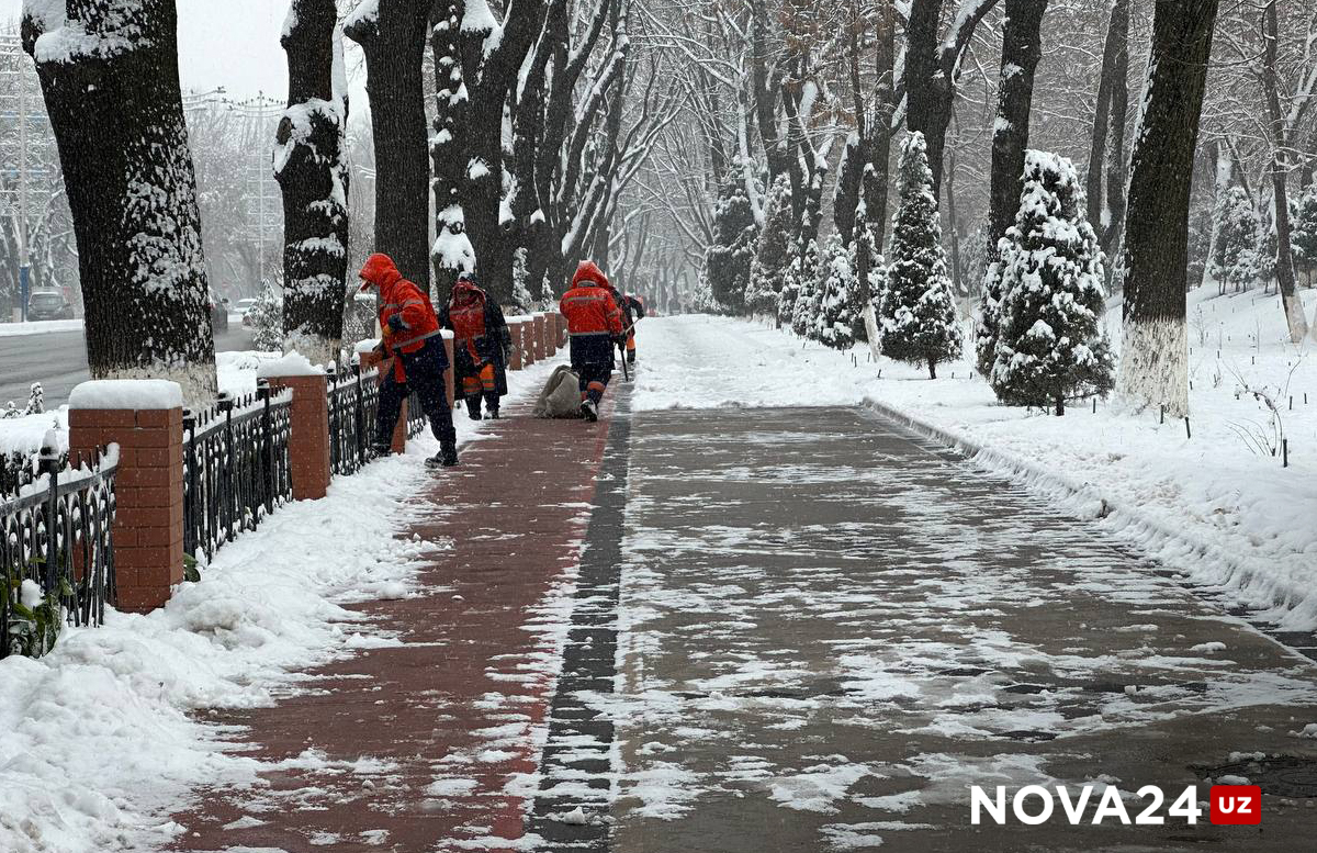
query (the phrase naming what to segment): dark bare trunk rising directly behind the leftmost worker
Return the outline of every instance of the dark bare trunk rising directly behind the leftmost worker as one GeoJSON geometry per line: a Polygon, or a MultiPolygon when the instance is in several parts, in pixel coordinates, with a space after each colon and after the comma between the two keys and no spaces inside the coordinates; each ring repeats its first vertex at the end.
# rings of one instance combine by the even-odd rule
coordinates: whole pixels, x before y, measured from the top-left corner
{"type": "Polygon", "coordinates": [[[344,29],[366,55],[375,251],[423,291],[429,290],[429,161],[421,57],[429,8],[429,0],[366,0],[344,29]]]}

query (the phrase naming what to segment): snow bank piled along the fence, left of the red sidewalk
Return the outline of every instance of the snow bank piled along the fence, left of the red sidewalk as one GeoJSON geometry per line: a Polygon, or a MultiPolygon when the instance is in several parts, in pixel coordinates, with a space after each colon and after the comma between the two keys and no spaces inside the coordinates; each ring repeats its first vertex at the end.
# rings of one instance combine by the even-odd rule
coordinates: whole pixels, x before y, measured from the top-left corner
{"type": "MultiPolygon", "coordinates": [[[[221,383],[254,388],[262,359],[221,357],[221,383]]],[[[536,394],[557,362],[510,374],[510,399],[536,394]]],[[[460,441],[479,437],[481,423],[454,421],[460,441]]],[[[190,790],[254,779],[261,765],[192,715],[270,703],[307,667],[392,642],[342,604],[407,595],[421,556],[446,546],[399,537],[436,449],[425,436],[335,478],[328,498],[281,508],[157,612],[111,612],[43,658],[0,659],[0,850],[151,849],[180,829],[158,815],[190,790]]]]}

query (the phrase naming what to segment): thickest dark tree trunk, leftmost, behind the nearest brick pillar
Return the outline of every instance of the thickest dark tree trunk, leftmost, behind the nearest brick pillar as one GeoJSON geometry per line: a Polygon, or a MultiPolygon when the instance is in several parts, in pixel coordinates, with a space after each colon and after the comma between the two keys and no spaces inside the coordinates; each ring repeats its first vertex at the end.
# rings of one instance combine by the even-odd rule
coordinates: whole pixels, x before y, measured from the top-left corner
{"type": "Polygon", "coordinates": [[[187,405],[209,405],[209,284],[173,0],[28,4],[22,42],[68,191],[92,376],[173,379],[187,405]]]}

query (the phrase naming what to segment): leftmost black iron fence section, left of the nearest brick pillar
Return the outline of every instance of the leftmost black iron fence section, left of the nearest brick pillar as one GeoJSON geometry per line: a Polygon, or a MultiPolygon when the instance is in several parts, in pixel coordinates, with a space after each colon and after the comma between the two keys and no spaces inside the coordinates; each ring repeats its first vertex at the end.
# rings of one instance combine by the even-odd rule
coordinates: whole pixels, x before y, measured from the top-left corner
{"type": "Polygon", "coordinates": [[[61,619],[99,625],[115,600],[117,449],[70,458],[47,448],[34,461],[0,459],[0,657],[41,654],[61,619]]]}

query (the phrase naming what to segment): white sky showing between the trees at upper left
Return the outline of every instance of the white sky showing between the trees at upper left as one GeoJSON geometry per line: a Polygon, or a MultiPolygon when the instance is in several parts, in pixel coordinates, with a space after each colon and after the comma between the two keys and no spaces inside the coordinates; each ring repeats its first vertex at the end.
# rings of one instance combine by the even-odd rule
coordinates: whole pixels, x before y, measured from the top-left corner
{"type": "MultiPolygon", "coordinates": [[[[284,99],[288,70],[279,33],[288,0],[176,3],[179,74],[184,90],[209,91],[223,86],[234,97],[265,92],[284,99]]],[[[0,25],[8,28],[17,22],[21,12],[22,0],[0,0],[0,25]]],[[[365,99],[357,103],[363,105],[365,99]]]]}

